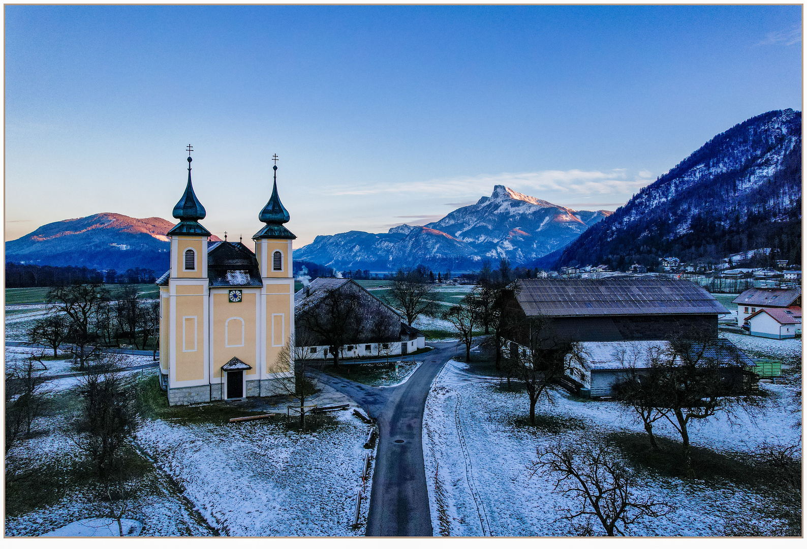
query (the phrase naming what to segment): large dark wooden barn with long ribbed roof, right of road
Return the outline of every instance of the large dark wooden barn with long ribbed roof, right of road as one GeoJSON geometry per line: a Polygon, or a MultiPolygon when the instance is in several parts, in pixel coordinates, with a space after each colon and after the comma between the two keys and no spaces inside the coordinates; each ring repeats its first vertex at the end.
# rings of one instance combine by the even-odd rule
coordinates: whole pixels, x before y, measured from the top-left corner
{"type": "Polygon", "coordinates": [[[728,310],[687,280],[614,277],[519,280],[511,312],[572,341],[617,342],[717,337],[717,316],[728,310]]]}

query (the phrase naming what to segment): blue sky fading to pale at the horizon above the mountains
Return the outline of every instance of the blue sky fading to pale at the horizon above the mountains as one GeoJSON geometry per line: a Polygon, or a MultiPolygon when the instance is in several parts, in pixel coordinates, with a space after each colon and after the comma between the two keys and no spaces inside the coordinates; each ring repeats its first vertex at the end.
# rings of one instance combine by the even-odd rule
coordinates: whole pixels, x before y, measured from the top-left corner
{"type": "MultiPolygon", "coordinates": [[[[295,247],[495,184],[616,209],[719,132],[801,111],[801,6],[6,6],[6,241],[98,212],[295,247]]],[[[249,241],[251,245],[252,242],[249,241]]]]}

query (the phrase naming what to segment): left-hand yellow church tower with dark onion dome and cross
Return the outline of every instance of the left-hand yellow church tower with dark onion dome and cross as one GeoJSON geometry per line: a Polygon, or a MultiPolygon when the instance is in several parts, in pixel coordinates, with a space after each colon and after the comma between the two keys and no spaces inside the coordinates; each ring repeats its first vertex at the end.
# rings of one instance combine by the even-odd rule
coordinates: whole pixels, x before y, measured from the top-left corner
{"type": "MultiPolygon", "coordinates": [[[[188,145],[188,152],[193,148],[188,145]]],[[[209,359],[207,237],[199,224],[207,215],[190,181],[173,215],[179,220],[167,236],[171,239],[171,263],[161,285],[160,371],[172,400],[210,400],[207,375],[209,359]],[[167,283],[167,284],[165,284],[167,283]],[[199,395],[196,393],[199,392],[199,395]],[[205,394],[202,394],[205,393],[205,394]]],[[[172,402],[173,404],[173,402],[172,402]]]]}

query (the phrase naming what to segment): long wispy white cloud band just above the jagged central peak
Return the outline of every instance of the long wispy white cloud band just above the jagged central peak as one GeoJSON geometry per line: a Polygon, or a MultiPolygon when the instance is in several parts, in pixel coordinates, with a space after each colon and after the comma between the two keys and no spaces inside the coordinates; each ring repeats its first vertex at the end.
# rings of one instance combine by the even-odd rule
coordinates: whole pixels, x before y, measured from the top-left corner
{"type": "MultiPolygon", "coordinates": [[[[610,195],[633,193],[652,182],[652,174],[642,170],[629,174],[627,170],[608,171],[546,170],[525,174],[481,174],[470,177],[432,179],[415,182],[379,182],[352,187],[332,187],[328,195],[409,194],[467,197],[489,195],[495,185],[504,185],[521,193],[547,193],[553,195],[610,195]]],[[[539,197],[540,198],[540,197],[539,197]]],[[[468,202],[446,205],[468,205],[468,202]]]]}

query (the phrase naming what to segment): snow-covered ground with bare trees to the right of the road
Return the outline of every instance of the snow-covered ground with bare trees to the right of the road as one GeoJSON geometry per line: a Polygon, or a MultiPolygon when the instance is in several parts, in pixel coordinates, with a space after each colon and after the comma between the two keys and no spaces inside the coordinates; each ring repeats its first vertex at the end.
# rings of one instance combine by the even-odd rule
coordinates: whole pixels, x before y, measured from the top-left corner
{"type": "MultiPolygon", "coordinates": [[[[793,385],[766,385],[772,395],[765,413],[741,416],[732,428],[725,417],[692,428],[698,446],[718,451],[748,451],[761,442],[794,443],[793,385]]],[[[549,477],[529,476],[537,446],[555,442],[607,444],[618,431],[644,432],[615,402],[580,401],[555,391],[554,405],[537,413],[556,420],[558,429],[525,426],[525,393],[499,389],[499,380],[468,373],[454,361],[437,376],[426,401],[424,460],[433,530],[437,535],[567,535],[570,525],[560,510],[572,501],[553,493],[549,477]],[[438,468],[439,463],[439,468],[438,468]]],[[[540,405],[539,405],[540,406],[540,405]]],[[[654,429],[677,440],[671,427],[654,429]]],[[[614,450],[617,452],[616,450],[614,450]]],[[[686,481],[636,471],[642,492],[675,505],[669,515],[633,527],[638,535],[721,535],[734,521],[770,526],[763,493],[728,481],[686,481]]],[[[596,526],[597,527],[597,526],[596,526]]]]}

